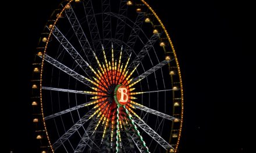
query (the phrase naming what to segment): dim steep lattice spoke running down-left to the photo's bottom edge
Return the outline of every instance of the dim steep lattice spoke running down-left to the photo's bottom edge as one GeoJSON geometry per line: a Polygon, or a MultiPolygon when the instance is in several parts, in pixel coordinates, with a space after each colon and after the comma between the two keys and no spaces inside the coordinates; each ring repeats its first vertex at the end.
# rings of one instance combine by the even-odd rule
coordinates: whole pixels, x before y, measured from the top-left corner
{"type": "MultiPolygon", "coordinates": [[[[97,119],[95,119],[95,117],[91,120],[89,126],[87,127],[86,131],[84,132],[84,135],[83,137],[81,138],[81,140],[79,141],[79,144],[77,145],[76,147],[76,150],[74,151],[75,153],[76,152],[84,152],[84,149],[86,148],[86,146],[88,145],[88,147],[91,147],[89,144],[88,144],[88,141],[91,140],[91,135],[93,134],[94,132],[94,128],[95,126],[97,125],[97,119]]],[[[94,141],[91,140],[91,143],[93,143],[94,141]]],[[[97,148],[97,152],[99,151],[99,147],[94,143],[94,145],[97,148]]],[[[94,150],[95,151],[95,150],[94,150]]]]}

